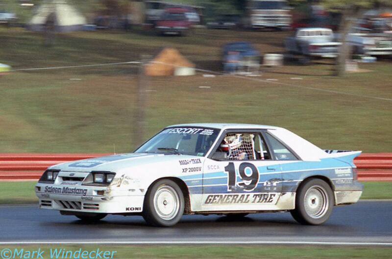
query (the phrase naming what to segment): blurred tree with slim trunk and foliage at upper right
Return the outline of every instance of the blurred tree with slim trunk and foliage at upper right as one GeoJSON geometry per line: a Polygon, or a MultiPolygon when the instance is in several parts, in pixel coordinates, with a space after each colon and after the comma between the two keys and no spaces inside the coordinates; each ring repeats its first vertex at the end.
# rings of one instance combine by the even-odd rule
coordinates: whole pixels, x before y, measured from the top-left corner
{"type": "Polygon", "coordinates": [[[345,72],[346,60],[350,57],[351,49],[348,44],[350,28],[362,14],[371,8],[391,5],[391,0],[320,0],[320,3],[329,11],[342,13],[342,21],[339,25],[342,45],[339,50],[335,73],[342,76],[345,72]]]}

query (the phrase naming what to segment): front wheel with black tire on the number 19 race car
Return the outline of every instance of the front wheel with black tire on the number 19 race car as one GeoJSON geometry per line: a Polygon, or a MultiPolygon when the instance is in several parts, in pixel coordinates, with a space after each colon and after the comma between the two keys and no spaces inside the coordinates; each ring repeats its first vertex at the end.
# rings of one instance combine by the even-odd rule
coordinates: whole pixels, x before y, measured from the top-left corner
{"type": "Polygon", "coordinates": [[[184,204],[184,195],[178,185],[162,179],[148,188],[142,215],[152,226],[170,227],[181,219],[184,204]]]}

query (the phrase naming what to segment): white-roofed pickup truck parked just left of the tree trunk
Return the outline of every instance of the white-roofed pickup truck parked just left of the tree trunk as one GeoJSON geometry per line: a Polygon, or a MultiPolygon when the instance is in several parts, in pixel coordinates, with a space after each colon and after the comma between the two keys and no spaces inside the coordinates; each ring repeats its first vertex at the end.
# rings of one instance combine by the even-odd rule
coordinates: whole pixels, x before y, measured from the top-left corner
{"type": "Polygon", "coordinates": [[[307,61],[311,58],[336,58],[340,45],[328,28],[301,28],[294,37],[288,37],[285,41],[289,54],[301,55],[307,61]]]}

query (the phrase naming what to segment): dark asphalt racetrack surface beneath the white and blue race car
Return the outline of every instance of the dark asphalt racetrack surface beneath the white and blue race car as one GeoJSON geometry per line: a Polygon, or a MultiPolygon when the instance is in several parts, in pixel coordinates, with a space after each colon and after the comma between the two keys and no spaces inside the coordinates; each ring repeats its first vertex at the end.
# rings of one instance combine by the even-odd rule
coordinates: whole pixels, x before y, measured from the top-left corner
{"type": "Polygon", "coordinates": [[[227,220],[218,215],[185,215],[171,228],[147,226],[141,216],[109,215],[94,224],[74,216],[40,210],[37,205],[0,206],[4,242],[369,242],[392,245],[392,202],[362,201],[335,207],[321,226],[302,226],[290,213],[248,215],[227,220]]]}

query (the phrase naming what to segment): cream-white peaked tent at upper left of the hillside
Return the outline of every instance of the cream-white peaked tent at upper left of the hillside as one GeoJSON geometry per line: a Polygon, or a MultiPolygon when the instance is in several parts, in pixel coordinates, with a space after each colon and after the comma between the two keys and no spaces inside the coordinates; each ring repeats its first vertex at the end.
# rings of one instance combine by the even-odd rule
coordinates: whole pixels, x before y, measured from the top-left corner
{"type": "Polygon", "coordinates": [[[82,30],[86,18],[82,16],[66,0],[50,0],[37,9],[36,14],[28,23],[28,28],[34,31],[45,31],[49,27],[57,32],[82,30]]]}

